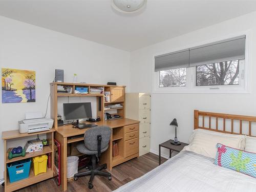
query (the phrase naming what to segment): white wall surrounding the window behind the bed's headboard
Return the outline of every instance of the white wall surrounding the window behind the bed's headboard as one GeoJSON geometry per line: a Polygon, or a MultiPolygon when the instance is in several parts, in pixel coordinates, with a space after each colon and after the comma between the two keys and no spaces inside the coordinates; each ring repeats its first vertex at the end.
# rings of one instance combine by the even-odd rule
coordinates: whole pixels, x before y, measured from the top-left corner
{"type": "MultiPolygon", "coordinates": [[[[200,21],[199,21],[200,22],[200,21]]],[[[202,45],[210,39],[222,38],[251,30],[249,41],[249,69],[256,72],[256,12],[237,17],[226,22],[200,29],[131,53],[131,92],[152,93],[153,56],[169,50],[180,50],[190,45],[202,45]]],[[[158,152],[158,144],[174,138],[174,130],[169,127],[177,118],[178,139],[188,142],[194,127],[194,110],[256,116],[256,76],[251,75],[250,94],[157,94],[152,93],[151,150],[158,152]]],[[[163,151],[167,155],[167,151],[163,151]]]]}

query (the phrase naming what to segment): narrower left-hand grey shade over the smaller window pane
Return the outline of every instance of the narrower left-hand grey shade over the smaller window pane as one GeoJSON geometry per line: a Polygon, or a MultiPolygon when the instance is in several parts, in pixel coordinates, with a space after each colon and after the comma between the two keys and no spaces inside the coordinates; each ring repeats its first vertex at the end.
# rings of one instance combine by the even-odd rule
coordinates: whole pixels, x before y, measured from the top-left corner
{"type": "Polygon", "coordinates": [[[155,57],[155,71],[188,67],[189,49],[167,53],[155,57]]]}

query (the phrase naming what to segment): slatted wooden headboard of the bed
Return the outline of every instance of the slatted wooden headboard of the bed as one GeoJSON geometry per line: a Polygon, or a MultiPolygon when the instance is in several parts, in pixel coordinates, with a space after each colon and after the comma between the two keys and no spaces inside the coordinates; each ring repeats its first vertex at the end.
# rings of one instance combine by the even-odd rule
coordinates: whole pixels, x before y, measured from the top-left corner
{"type": "Polygon", "coordinates": [[[231,114],[224,114],[224,113],[212,113],[212,112],[202,112],[202,111],[194,110],[194,129],[204,129],[209,131],[238,134],[238,135],[248,135],[248,136],[256,137],[256,126],[255,126],[255,133],[252,134],[253,122],[256,122],[256,117],[253,117],[253,116],[231,115],[231,114]],[[206,119],[207,119],[207,125],[206,125],[206,119]],[[215,121],[214,123],[212,123],[213,120],[215,121]],[[220,120],[223,123],[220,123],[220,120]],[[229,122],[230,126],[227,126],[228,124],[227,121],[230,121],[229,122]],[[235,123],[236,125],[238,125],[238,129],[236,130],[234,129],[235,123]],[[215,127],[212,127],[212,124],[215,124],[215,127]]]}

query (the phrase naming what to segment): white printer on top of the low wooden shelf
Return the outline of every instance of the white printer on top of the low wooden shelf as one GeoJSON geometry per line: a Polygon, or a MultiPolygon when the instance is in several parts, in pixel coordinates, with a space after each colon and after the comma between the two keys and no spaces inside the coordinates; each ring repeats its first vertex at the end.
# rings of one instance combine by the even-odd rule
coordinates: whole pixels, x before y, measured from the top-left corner
{"type": "Polygon", "coordinates": [[[43,118],[42,113],[26,113],[26,119],[18,121],[19,133],[34,133],[52,129],[53,119],[43,118]]]}

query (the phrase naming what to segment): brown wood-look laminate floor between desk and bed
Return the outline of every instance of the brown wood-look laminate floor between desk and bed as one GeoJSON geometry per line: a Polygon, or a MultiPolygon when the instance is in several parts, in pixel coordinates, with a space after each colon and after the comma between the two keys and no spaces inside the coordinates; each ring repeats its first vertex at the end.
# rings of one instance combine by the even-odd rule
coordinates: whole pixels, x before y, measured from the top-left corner
{"type": "MultiPolygon", "coordinates": [[[[166,159],[162,158],[162,162],[166,159]]],[[[108,178],[102,176],[95,176],[93,180],[94,187],[92,189],[88,188],[88,182],[90,176],[84,176],[78,178],[77,181],[68,182],[68,191],[90,191],[90,192],[105,192],[112,191],[118,187],[130,182],[150,170],[158,166],[158,156],[153,153],[145,154],[139,158],[134,158],[130,161],[122,163],[115,166],[112,171],[112,180],[109,181],[108,178]]],[[[4,187],[0,187],[0,192],[4,191],[4,187]]],[[[25,187],[23,189],[17,190],[19,192],[34,192],[34,191],[61,191],[55,184],[53,179],[48,179],[40,183],[25,187]]]]}

